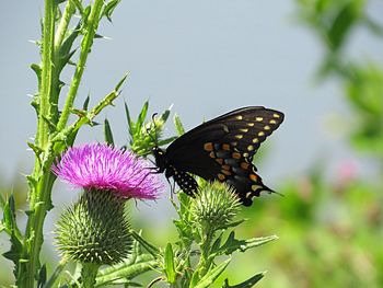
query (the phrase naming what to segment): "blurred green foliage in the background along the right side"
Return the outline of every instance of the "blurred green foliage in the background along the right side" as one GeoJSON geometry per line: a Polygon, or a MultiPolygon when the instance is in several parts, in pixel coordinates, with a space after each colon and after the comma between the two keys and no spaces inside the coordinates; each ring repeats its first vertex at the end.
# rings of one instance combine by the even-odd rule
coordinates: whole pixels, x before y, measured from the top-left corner
{"type": "Polygon", "coordinates": [[[336,79],[344,88],[351,112],[345,128],[355,157],[368,155],[378,177],[340,163],[329,180],[326,163],[314,164],[307,175],[278,189],[286,197],[255,201],[243,210],[249,220],[242,233],[277,233],[280,241],[242,258],[231,270],[232,278],[260,263],[269,269],[263,287],[383,287],[383,69],[347,53],[357,28],[373,32],[370,35],[383,33],[368,15],[371,2],[299,0],[297,4],[301,23],[326,51],[318,79],[336,79]]]}

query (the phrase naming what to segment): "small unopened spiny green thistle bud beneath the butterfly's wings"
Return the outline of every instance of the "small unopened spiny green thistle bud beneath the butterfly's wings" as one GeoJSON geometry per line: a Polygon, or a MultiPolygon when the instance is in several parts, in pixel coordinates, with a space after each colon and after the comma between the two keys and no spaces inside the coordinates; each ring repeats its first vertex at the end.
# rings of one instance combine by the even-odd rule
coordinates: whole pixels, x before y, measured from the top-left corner
{"type": "Polygon", "coordinates": [[[202,231],[217,231],[229,226],[240,209],[234,191],[228,185],[213,182],[200,187],[192,201],[192,221],[202,231]]]}

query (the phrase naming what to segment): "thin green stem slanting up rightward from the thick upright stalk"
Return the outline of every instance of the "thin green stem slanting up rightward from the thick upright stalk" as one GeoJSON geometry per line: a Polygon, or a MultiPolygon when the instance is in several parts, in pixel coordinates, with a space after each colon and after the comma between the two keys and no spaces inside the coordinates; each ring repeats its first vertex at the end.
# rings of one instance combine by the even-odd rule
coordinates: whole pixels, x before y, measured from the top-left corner
{"type": "Polygon", "coordinates": [[[81,53],[80,53],[80,59],[77,65],[74,77],[71,82],[71,85],[69,88],[69,92],[66,99],[66,103],[63,105],[63,110],[61,113],[61,116],[59,118],[59,122],[57,124],[57,130],[62,130],[68,122],[69,115],[71,113],[73,101],[77,95],[77,92],[79,90],[79,85],[82,79],[82,74],[85,69],[85,64],[88,59],[88,55],[90,54],[93,39],[95,36],[95,33],[98,27],[100,22],[100,14],[103,8],[104,1],[103,0],[95,0],[94,4],[92,7],[91,13],[89,15],[89,19],[86,21],[86,33],[81,42],[81,53]]]}

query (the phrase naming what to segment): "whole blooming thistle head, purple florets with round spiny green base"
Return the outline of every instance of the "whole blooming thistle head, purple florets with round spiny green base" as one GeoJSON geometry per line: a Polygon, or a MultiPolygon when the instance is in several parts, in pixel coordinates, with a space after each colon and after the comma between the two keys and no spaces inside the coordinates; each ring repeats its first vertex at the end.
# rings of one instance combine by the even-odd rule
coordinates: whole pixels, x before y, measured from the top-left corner
{"type": "Polygon", "coordinates": [[[70,148],[53,171],[73,187],[84,188],[57,223],[61,253],[95,267],[126,258],[132,238],[125,203],[155,199],[162,188],[158,175],[131,152],[98,143],[70,148]]]}

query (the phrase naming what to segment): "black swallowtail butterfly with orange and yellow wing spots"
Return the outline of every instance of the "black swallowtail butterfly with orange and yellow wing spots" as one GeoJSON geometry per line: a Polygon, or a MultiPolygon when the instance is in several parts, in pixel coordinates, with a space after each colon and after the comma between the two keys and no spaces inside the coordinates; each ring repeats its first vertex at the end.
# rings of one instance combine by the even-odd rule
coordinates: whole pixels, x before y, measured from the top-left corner
{"type": "Polygon", "coordinates": [[[235,188],[245,206],[263,191],[272,192],[262,182],[253,165],[260,143],[283,122],[283,113],[262,106],[243,107],[206,122],[174,140],[166,150],[152,150],[159,173],[174,177],[187,195],[197,193],[190,175],[225,182],[235,188]]]}

